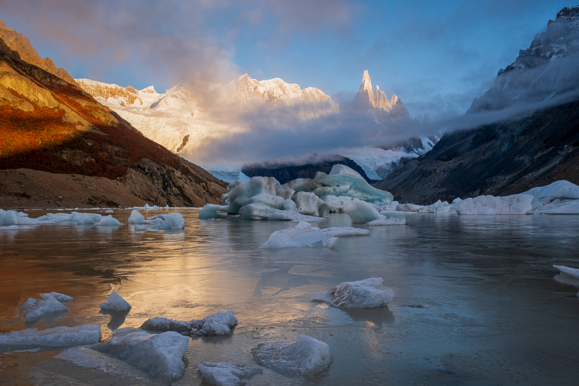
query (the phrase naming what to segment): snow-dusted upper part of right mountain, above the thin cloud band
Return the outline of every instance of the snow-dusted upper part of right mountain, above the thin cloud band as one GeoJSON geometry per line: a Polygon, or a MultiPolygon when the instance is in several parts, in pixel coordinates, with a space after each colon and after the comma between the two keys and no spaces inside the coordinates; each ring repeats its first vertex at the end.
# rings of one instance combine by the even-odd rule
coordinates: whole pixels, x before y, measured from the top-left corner
{"type": "Polygon", "coordinates": [[[540,102],[579,83],[579,6],[565,7],[530,47],[500,69],[494,85],[472,101],[467,113],[499,110],[517,102],[540,102]]]}

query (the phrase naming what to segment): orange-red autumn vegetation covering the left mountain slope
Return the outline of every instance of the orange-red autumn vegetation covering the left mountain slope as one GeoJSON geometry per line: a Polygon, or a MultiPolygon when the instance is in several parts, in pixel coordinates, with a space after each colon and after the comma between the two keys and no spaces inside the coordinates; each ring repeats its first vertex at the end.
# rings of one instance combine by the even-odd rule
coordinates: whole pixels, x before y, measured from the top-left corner
{"type": "Polygon", "coordinates": [[[23,111],[0,105],[0,168],[30,168],[53,173],[116,178],[142,158],[177,168],[177,157],[132,127],[108,122],[104,106],[76,87],[52,85],[53,97],[74,110],[105,135],[76,129],[64,120],[62,108],[34,106],[23,111]]]}

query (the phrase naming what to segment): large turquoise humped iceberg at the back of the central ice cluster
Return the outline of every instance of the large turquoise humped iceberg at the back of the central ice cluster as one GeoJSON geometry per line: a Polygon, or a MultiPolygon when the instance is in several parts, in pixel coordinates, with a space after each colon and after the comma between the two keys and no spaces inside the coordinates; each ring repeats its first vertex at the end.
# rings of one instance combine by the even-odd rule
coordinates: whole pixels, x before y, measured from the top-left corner
{"type": "Polygon", "coordinates": [[[317,172],[316,177],[298,178],[281,186],[281,189],[293,189],[298,192],[313,192],[318,197],[349,196],[367,203],[390,203],[392,194],[370,186],[357,171],[336,164],[329,174],[317,172]]]}

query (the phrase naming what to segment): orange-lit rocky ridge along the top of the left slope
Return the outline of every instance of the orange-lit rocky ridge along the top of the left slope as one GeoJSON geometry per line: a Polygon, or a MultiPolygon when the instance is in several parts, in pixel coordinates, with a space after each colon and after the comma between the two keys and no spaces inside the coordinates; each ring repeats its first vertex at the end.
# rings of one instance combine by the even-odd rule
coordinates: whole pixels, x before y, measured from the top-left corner
{"type": "Polygon", "coordinates": [[[57,68],[56,64],[50,58],[41,58],[38,52],[32,47],[30,40],[23,34],[19,34],[12,28],[6,27],[6,24],[0,20],[0,39],[2,39],[10,49],[18,52],[20,58],[27,63],[34,64],[45,71],[66,80],[68,83],[75,84],[72,76],[64,68],[57,68]]]}

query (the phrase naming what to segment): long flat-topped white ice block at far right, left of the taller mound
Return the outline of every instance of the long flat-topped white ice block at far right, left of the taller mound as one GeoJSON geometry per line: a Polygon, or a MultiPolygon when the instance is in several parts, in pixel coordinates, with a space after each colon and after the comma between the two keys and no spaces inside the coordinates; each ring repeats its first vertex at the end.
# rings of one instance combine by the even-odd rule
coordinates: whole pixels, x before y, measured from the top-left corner
{"type": "Polygon", "coordinates": [[[478,196],[460,201],[455,209],[459,215],[526,215],[532,209],[532,200],[530,194],[478,196]]]}

